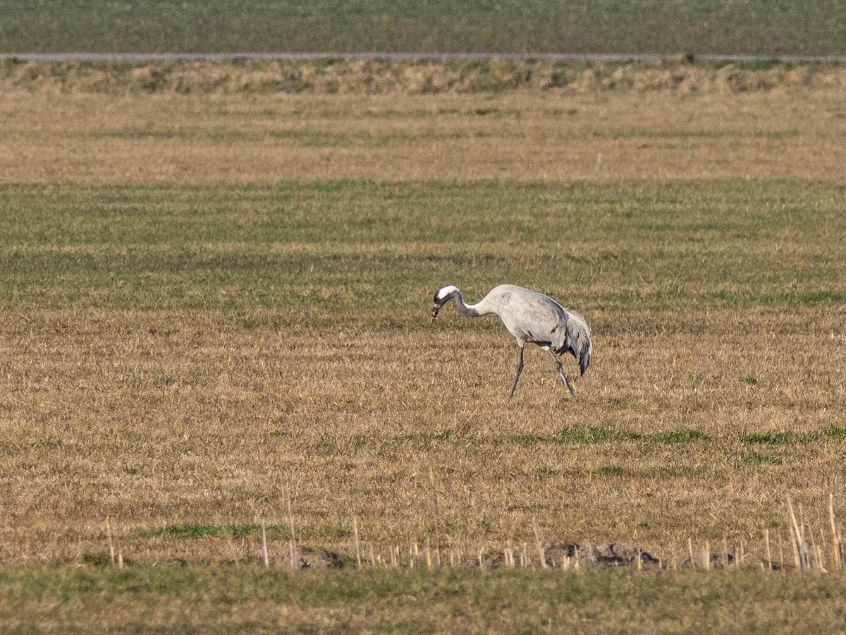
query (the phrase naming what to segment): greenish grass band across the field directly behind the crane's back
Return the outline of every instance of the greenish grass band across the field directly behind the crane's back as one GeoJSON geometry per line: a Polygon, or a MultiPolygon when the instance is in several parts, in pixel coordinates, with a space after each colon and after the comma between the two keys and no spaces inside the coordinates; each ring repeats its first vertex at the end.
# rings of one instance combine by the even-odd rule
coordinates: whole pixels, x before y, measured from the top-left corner
{"type": "Polygon", "coordinates": [[[504,280],[587,312],[836,306],[844,200],[799,181],[3,185],[0,301],[359,328],[504,280]]]}

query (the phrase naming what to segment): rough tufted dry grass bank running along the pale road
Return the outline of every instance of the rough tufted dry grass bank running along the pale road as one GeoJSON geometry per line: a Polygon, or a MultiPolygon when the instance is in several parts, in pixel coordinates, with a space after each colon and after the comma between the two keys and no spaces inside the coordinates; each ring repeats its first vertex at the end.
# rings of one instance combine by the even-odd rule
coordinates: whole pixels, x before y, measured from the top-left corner
{"type": "Polygon", "coordinates": [[[19,62],[0,64],[0,88],[85,93],[314,93],[412,95],[446,92],[679,91],[734,93],[776,88],[846,88],[840,65],[738,64],[700,67],[684,61],[560,63],[544,60],[426,62],[377,59],[156,63],[19,62]]]}

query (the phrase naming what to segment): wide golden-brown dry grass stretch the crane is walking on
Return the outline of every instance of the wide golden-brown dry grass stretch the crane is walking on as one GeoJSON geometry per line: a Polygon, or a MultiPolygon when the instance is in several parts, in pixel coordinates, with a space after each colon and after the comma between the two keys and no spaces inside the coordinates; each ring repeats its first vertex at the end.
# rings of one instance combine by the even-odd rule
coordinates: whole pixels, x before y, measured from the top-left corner
{"type": "Polygon", "coordinates": [[[93,310],[69,328],[63,312],[7,313],[3,560],[96,551],[107,517],[135,559],[255,556],[255,536],[251,547],[180,544],[144,530],[285,525],[288,495],[311,544],[349,553],[352,538],[332,527],[354,517],[365,544],[425,544],[430,469],[444,549],[519,543],[533,523],[576,541],[635,540],[665,558],[690,536],[757,549],[764,529],[784,527],[786,496],[818,511],[819,527],[828,493],[842,500],[842,439],[820,434],[842,424],[842,318],[724,311],[690,316],[719,329],[656,334],[642,317],[602,315],[576,400],[530,351],[509,403],[516,346],[506,334],[315,338],[239,329],[213,313],[93,310]],[[588,426],[622,436],[550,440],[588,426]],[[649,440],[684,429],[706,439],[649,440]],[[769,431],[816,437],[744,441],[769,431]]]}

